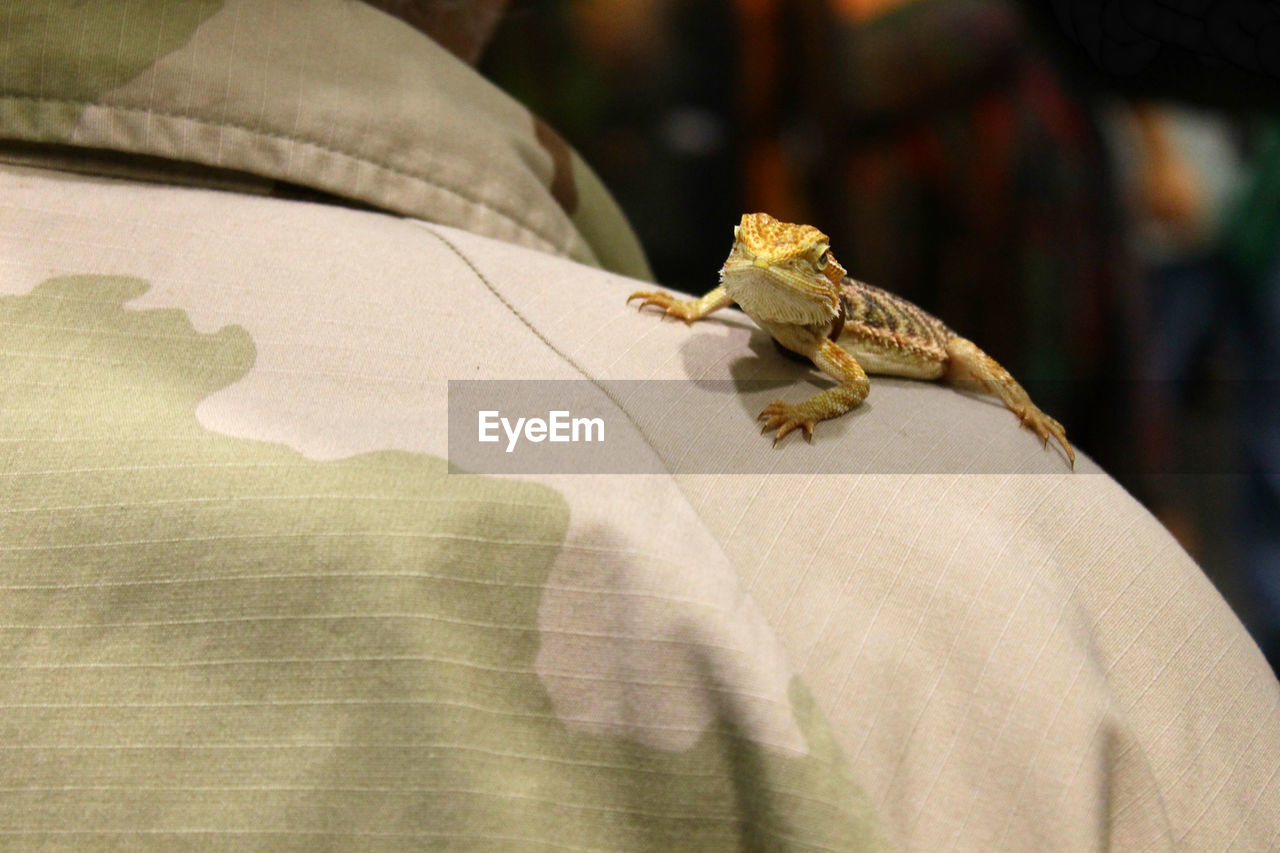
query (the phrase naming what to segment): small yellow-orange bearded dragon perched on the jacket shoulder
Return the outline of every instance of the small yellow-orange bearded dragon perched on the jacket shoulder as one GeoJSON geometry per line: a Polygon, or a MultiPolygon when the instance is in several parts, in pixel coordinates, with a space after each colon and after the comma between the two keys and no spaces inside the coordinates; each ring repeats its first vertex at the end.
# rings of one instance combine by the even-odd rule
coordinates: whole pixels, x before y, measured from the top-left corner
{"type": "Polygon", "coordinates": [[[733,228],[733,248],[721,284],[700,300],[663,291],[627,297],[654,305],[686,324],[736,304],[783,350],[806,357],[838,382],[799,405],[765,406],[760,432],[777,430],[777,444],[794,429],[813,441],[820,420],[838,418],[867,398],[868,373],[977,384],[998,397],[1048,446],[1057,441],[1075,467],[1066,432],[1042,412],[1009,371],[942,320],[888,291],[850,278],[831,254],[831,241],[813,225],[746,214],[733,228]]]}

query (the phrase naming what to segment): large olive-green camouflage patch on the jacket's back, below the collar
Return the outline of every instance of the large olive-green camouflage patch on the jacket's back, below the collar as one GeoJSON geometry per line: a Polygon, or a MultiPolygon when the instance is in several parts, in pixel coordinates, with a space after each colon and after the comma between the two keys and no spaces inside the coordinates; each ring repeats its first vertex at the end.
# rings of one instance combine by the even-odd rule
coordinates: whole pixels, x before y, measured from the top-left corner
{"type": "Polygon", "coordinates": [[[209,432],[253,343],[146,288],[0,297],[0,845],[879,847],[799,685],[803,758],[571,731],[534,666],[561,496],[209,432]]]}

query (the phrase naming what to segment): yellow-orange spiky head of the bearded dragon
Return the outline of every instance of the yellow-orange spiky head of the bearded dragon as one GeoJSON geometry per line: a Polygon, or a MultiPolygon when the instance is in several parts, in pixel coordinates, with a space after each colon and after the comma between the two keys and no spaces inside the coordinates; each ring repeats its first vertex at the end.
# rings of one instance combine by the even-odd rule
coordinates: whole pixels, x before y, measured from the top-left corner
{"type": "Polygon", "coordinates": [[[728,296],[756,320],[813,325],[840,313],[845,268],[813,225],[746,214],[721,269],[728,296]]]}

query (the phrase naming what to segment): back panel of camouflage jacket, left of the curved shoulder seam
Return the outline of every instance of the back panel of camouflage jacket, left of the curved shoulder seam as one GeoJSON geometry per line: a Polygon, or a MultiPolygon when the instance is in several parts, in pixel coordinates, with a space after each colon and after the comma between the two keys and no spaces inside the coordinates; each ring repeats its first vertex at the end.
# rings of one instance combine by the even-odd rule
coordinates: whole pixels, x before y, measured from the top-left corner
{"type": "Polygon", "coordinates": [[[883,845],[671,478],[447,473],[461,232],[0,175],[0,844],[883,845]]]}

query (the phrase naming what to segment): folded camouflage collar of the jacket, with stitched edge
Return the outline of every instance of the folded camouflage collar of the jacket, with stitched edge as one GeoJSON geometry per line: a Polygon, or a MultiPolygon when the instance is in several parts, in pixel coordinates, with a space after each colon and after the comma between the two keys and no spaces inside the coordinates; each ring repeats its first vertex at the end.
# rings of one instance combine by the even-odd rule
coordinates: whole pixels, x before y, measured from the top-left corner
{"type": "Polygon", "coordinates": [[[648,277],[576,152],[362,3],[49,0],[5,4],[0,33],[0,137],[28,163],[38,143],[64,161],[65,146],[134,156],[161,177],[180,164],[184,182],[195,164],[648,277]]]}

